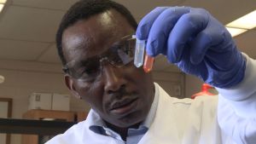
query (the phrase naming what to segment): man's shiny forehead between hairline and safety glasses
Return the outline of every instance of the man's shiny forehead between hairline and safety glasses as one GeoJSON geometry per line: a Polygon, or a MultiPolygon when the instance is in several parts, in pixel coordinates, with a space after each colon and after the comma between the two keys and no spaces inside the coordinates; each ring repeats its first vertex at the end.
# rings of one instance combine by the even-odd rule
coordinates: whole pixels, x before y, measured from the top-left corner
{"type": "Polygon", "coordinates": [[[79,59],[79,55],[83,57],[98,55],[119,38],[134,31],[122,16],[114,18],[115,14],[119,15],[115,11],[108,11],[92,16],[88,20],[79,20],[68,27],[62,37],[63,53],[67,61],[79,59]]]}

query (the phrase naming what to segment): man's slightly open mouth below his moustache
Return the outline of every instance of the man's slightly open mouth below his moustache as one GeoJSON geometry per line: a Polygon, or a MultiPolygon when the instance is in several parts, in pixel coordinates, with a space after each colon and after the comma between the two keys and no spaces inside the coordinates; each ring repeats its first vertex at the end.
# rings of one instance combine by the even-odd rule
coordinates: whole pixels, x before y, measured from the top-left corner
{"type": "Polygon", "coordinates": [[[131,112],[131,110],[137,106],[137,100],[138,98],[116,101],[113,103],[110,112],[115,115],[123,115],[125,113],[131,112]]]}

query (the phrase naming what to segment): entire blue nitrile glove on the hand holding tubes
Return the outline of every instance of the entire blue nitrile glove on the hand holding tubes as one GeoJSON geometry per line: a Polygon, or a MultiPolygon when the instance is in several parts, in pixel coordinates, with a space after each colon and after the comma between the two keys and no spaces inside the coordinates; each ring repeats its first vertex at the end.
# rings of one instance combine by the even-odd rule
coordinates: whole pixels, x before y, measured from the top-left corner
{"type": "Polygon", "coordinates": [[[230,33],[205,9],[156,8],[137,27],[148,55],[166,55],[183,72],[207,84],[228,88],[244,77],[246,60],[230,33]]]}

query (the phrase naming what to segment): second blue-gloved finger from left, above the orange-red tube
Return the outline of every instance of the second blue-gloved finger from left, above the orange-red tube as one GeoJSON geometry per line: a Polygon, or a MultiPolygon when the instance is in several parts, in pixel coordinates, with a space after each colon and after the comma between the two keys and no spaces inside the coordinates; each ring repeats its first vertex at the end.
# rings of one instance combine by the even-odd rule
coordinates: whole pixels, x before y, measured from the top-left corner
{"type": "Polygon", "coordinates": [[[148,55],[166,55],[166,41],[172,27],[181,15],[189,13],[189,8],[170,7],[165,9],[157,18],[150,29],[147,42],[148,55]]]}

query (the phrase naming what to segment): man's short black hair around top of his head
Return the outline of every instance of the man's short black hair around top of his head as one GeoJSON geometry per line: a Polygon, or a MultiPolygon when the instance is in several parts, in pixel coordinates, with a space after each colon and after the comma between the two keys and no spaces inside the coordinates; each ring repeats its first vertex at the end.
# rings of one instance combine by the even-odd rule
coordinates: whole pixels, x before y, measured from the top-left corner
{"type": "Polygon", "coordinates": [[[63,66],[66,65],[67,60],[62,51],[62,34],[67,27],[73,26],[79,20],[87,20],[91,16],[101,14],[109,9],[117,10],[135,30],[137,29],[137,21],[125,6],[111,0],[80,0],[67,10],[56,33],[56,46],[63,66]]]}

